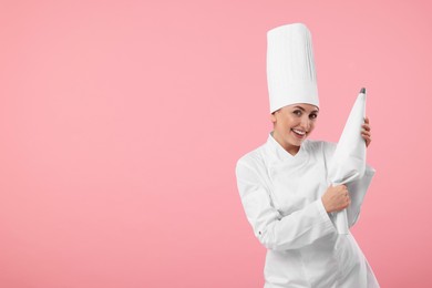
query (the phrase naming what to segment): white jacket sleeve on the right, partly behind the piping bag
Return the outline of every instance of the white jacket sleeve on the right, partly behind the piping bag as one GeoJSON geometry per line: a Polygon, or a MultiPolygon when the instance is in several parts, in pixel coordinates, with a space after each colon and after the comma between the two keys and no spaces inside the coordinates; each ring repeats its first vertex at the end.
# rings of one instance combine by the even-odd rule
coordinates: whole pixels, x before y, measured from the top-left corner
{"type": "Polygon", "coordinates": [[[351,205],[347,208],[349,227],[352,227],[359,219],[360,207],[363,204],[364,195],[368,192],[374,173],[376,171],[367,165],[363,177],[347,184],[351,197],[351,205]]]}

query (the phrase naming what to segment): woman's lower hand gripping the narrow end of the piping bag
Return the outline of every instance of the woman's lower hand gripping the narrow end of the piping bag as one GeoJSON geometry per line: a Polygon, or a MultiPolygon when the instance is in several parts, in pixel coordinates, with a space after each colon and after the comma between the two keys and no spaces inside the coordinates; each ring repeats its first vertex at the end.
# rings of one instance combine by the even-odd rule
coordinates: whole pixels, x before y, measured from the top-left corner
{"type": "Polygon", "coordinates": [[[329,186],[321,197],[327,213],[338,212],[351,204],[350,194],[346,185],[329,186]]]}

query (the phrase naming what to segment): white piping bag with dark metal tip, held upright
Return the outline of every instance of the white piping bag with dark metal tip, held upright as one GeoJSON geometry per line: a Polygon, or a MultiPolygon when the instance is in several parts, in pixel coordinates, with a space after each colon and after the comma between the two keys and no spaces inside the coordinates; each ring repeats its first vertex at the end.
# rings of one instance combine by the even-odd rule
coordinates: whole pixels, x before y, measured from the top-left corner
{"type": "MultiPolygon", "coordinates": [[[[359,179],[366,171],[366,142],[361,126],[366,116],[366,89],[362,88],[348,116],[329,167],[329,181],[336,185],[359,179]]],[[[339,234],[349,234],[347,209],[335,213],[335,226],[339,234]]]]}

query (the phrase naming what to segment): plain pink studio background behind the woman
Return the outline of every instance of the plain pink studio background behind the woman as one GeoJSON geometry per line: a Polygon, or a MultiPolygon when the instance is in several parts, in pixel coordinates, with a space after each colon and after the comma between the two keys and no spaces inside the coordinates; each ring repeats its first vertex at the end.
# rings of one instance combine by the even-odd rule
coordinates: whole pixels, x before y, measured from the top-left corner
{"type": "Polygon", "coordinates": [[[270,131],[266,31],[312,31],[337,141],[369,91],[353,233],[382,287],[431,287],[430,1],[1,1],[0,286],[261,287],[234,168],[270,131]]]}

